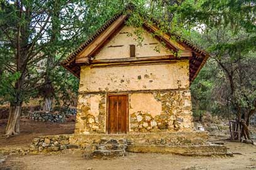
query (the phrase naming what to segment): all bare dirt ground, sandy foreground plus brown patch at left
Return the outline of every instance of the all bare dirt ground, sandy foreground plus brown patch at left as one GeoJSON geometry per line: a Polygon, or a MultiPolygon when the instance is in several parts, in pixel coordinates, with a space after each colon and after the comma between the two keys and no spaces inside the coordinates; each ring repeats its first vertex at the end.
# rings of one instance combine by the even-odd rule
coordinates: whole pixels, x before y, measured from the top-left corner
{"type": "MultiPolygon", "coordinates": [[[[0,122],[0,134],[4,133],[6,121],[0,122]]],[[[29,146],[36,136],[46,134],[73,133],[74,123],[65,124],[39,123],[23,119],[21,134],[12,138],[0,138],[1,147],[29,146]]],[[[81,154],[0,156],[1,170],[18,169],[256,169],[256,146],[244,143],[225,142],[233,157],[189,157],[173,154],[135,154],[111,159],[83,159],[81,154]],[[2,162],[2,163],[1,163],[2,162]]]]}

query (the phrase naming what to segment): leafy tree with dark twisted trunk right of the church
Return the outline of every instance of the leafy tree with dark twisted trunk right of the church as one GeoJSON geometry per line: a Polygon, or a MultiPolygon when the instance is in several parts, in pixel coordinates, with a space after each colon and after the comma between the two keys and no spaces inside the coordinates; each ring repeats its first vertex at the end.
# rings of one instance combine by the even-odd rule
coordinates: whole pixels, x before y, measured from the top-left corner
{"type": "MultiPolygon", "coordinates": [[[[240,46],[237,44],[237,41],[246,41],[251,36],[254,34],[248,34],[242,28],[233,34],[230,27],[218,26],[201,33],[198,38],[198,42],[211,53],[208,66],[211,65],[209,68],[215,70],[210,72],[213,78],[206,80],[200,74],[196,83],[210,81],[211,86],[208,91],[211,92],[211,103],[215,100],[218,106],[227,108],[222,109],[223,112],[228,114],[232,112],[237,116],[241,128],[238,126],[239,133],[237,136],[232,136],[232,139],[241,139],[242,136],[250,139],[248,126],[256,110],[256,68],[252,64],[256,62],[255,52],[247,47],[247,43],[240,43],[240,46]]],[[[198,84],[193,84],[191,87],[195,92],[198,84]]],[[[206,97],[203,95],[201,98],[206,97]]]]}

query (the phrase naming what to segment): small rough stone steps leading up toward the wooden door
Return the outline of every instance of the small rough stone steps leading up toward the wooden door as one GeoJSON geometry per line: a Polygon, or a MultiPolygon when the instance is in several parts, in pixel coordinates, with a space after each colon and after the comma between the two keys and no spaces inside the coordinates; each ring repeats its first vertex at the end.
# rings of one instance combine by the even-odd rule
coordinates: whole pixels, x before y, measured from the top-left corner
{"type": "Polygon", "coordinates": [[[101,139],[93,151],[93,158],[102,158],[105,156],[125,156],[127,149],[126,139],[101,139]]]}

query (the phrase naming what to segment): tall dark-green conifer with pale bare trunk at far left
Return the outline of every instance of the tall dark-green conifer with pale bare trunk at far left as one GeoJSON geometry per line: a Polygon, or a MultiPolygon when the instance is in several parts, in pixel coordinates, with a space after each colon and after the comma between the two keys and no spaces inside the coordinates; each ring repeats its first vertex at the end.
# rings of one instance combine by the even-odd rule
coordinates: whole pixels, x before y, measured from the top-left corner
{"type": "MultiPolygon", "coordinates": [[[[67,27],[80,24],[78,16],[80,14],[72,14],[68,16],[68,12],[73,10],[70,2],[59,1],[63,12],[60,30],[67,27]],[[63,2],[63,3],[61,3],[63,2]],[[72,24],[71,24],[72,23],[72,24]]],[[[9,120],[6,127],[6,135],[19,133],[19,116],[21,106],[24,101],[35,95],[35,91],[43,85],[40,83],[46,75],[44,68],[40,68],[40,62],[45,59],[45,49],[54,46],[53,41],[49,37],[51,30],[51,19],[56,11],[51,8],[51,1],[3,1],[1,2],[1,51],[5,53],[10,63],[4,61],[4,75],[1,76],[1,93],[4,100],[9,101],[9,120]],[[10,93],[8,93],[9,91],[10,93]]],[[[72,12],[72,11],[71,11],[72,12]]],[[[77,37],[80,29],[70,28],[65,32],[65,45],[72,45],[77,37]],[[72,36],[72,37],[71,37],[72,36]]],[[[60,32],[60,31],[58,31],[60,32]]],[[[64,41],[63,41],[64,42],[64,41]]],[[[67,51],[61,51],[61,54],[67,54],[67,51]]],[[[3,59],[3,58],[2,58],[3,59]]],[[[55,68],[58,62],[52,66],[55,68]]]]}

